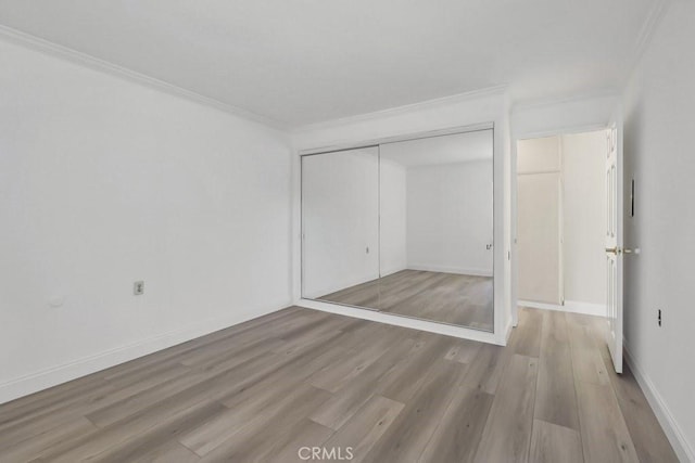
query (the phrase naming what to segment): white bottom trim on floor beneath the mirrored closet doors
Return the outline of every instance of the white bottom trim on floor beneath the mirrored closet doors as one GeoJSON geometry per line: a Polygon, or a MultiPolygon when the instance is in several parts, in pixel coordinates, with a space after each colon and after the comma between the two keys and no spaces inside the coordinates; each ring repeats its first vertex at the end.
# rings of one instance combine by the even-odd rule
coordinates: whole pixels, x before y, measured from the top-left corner
{"type": "Polygon", "coordinates": [[[369,320],[395,326],[408,327],[412,330],[420,330],[430,333],[443,334],[446,336],[459,337],[462,339],[472,339],[480,343],[495,344],[498,346],[506,346],[507,343],[506,331],[503,335],[496,336],[492,332],[476,330],[472,327],[431,322],[412,317],[402,317],[394,313],[384,313],[370,309],[361,309],[357,307],[341,306],[339,304],[329,304],[311,299],[300,299],[295,305],[308,309],[320,310],[329,313],[338,313],[340,316],[352,317],[361,320],[369,320]]]}

